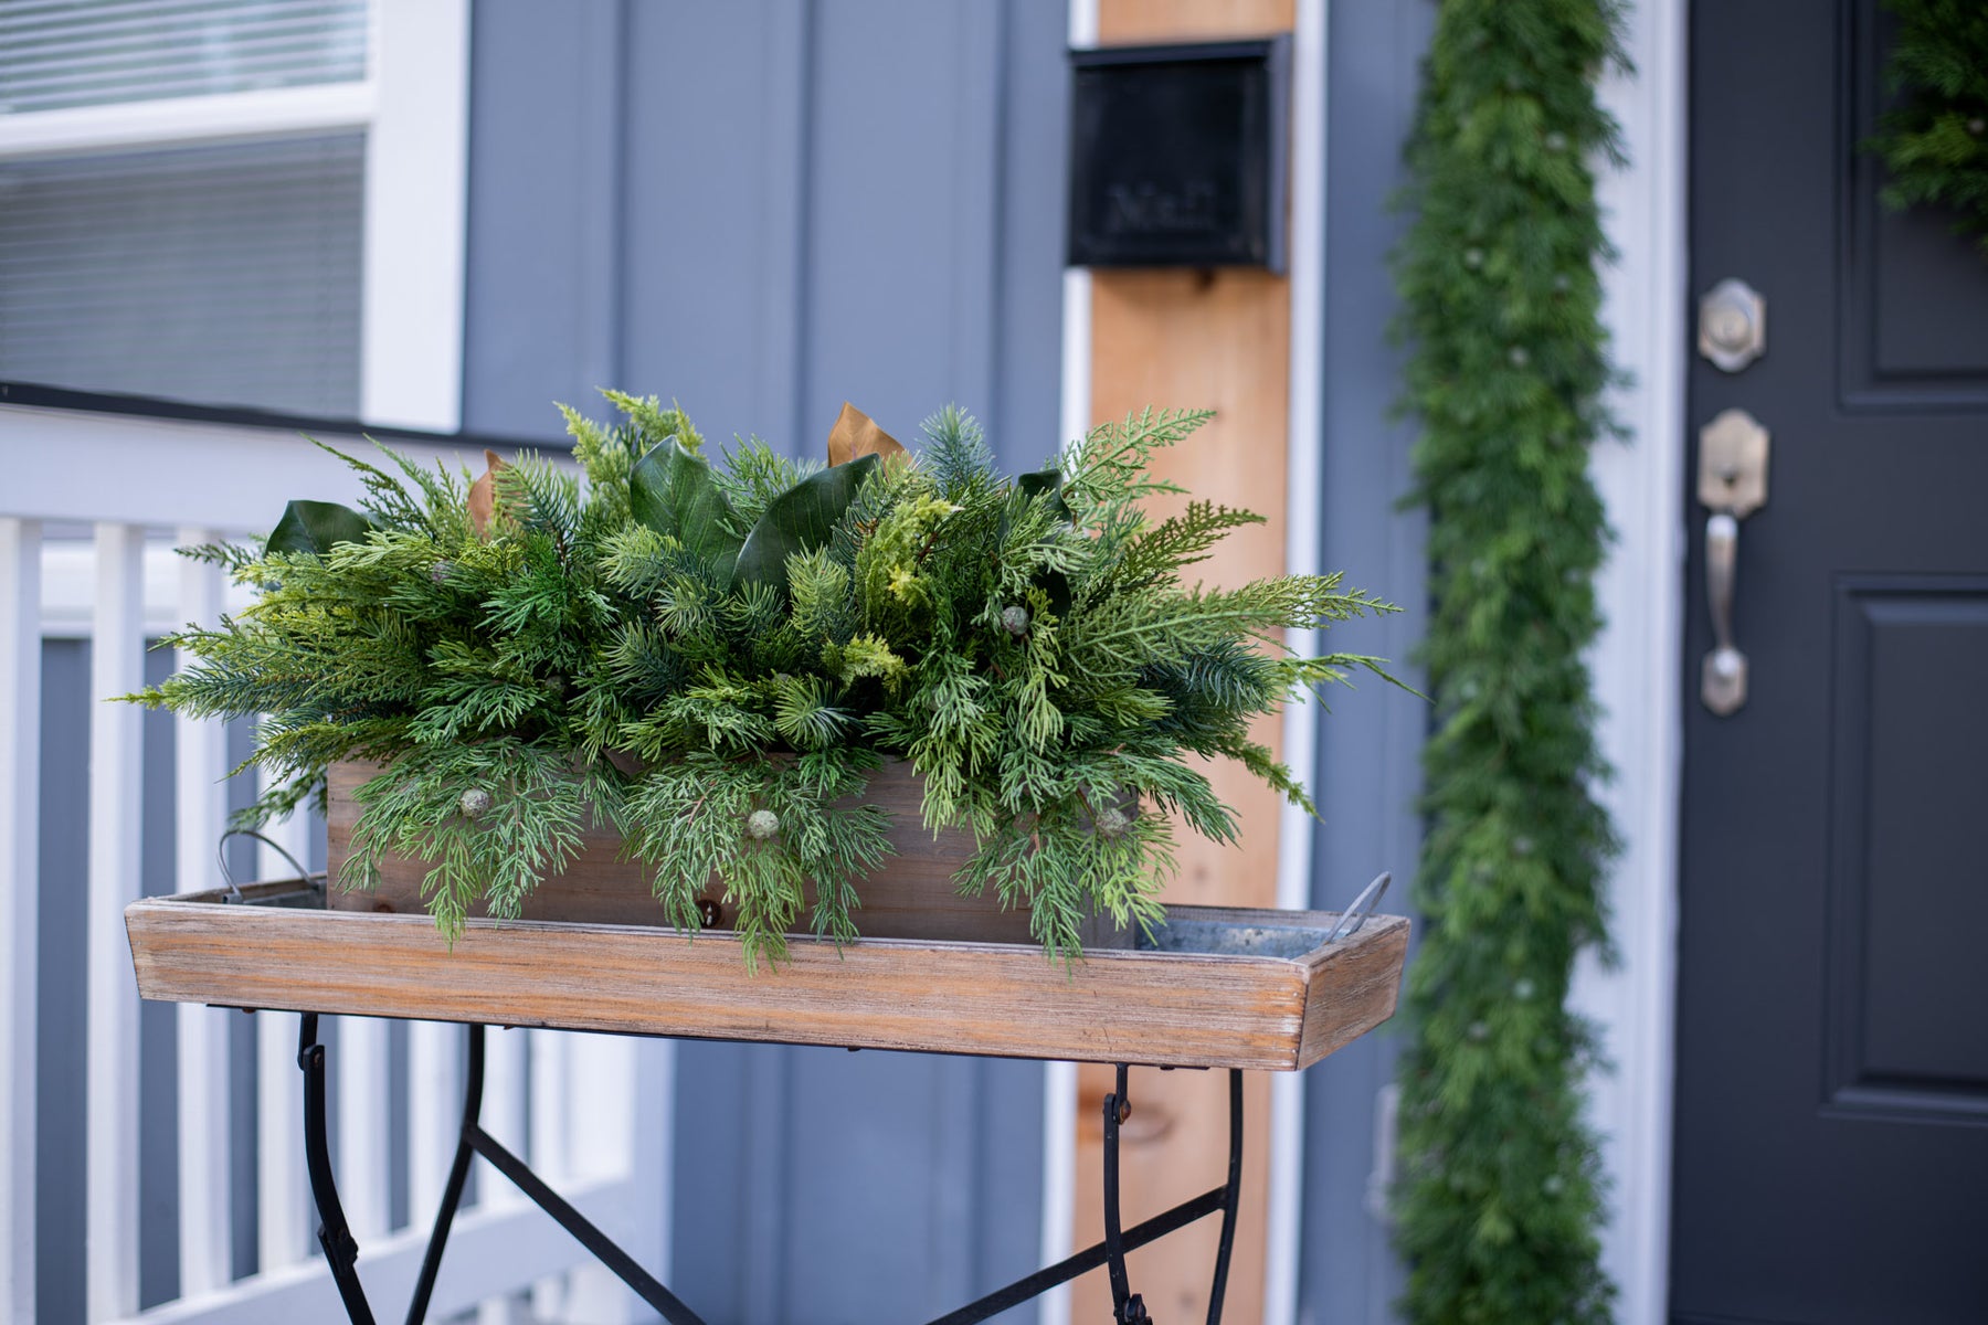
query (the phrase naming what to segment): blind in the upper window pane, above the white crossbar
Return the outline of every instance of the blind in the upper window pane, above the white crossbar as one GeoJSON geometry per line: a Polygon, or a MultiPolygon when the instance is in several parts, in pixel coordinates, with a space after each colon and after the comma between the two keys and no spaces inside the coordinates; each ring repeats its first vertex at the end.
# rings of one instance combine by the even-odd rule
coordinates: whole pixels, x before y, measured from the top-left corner
{"type": "Polygon", "coordinates": [[[0,111],[366,77],[366,0],[6,0],[0,111]]]}

